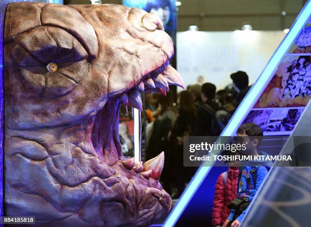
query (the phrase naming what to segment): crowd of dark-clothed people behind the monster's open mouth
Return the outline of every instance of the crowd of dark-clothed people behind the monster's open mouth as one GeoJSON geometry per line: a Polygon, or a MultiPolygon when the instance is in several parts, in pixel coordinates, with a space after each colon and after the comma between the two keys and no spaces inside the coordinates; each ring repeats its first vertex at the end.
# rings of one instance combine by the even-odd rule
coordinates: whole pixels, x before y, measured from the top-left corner
{"type": "Polygon", "coordinates": [[[219,136],[250,89],[245,72],[230,77],[232,84],[222,90],[212,83],[190,85],[178,93],[176,103],[171,91],[166,96],[145,94],[145,158],[165,151],[160,180],[172,198],[179,198],[196,172],[193,167],[183,167],[183,137],[219,136]]]}

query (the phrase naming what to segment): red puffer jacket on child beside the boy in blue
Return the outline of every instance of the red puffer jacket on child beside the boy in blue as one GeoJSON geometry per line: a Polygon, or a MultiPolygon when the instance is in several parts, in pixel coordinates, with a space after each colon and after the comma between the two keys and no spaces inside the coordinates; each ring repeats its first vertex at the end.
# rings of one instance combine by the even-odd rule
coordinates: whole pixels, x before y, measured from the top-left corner
{"type": "Polygon", "coordinates": [[[238,174],[238,167],[229,167],[217,179],[212,210],[213,225],[224,224],[230,214],[228,204],[236,198],[238,174]]]}

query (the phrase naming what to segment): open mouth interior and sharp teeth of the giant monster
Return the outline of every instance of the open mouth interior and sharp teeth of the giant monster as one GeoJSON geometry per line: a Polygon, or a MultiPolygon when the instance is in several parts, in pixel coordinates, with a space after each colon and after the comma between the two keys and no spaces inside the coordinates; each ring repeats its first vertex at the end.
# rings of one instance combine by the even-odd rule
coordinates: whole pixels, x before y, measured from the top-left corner
{"type": "Polygon", "coordinates": [[[91,142],[100,159],[108,165],[115,165],[119,160],[127,170],[140,173],[146,179],[158,180],[164,165],[164,152],[146,163],[135,163],[134,158],[125,159],[122,155],[119,141],[119,111],[122,104],[132,106],[142,111],[140,92],[157,92],[166,95],[169,85],[184,88],[184,83],[178,72],[168,63],[142,79],[130,90],[124,91],[109,98],[94,120],[91,131],[91,142]]]}

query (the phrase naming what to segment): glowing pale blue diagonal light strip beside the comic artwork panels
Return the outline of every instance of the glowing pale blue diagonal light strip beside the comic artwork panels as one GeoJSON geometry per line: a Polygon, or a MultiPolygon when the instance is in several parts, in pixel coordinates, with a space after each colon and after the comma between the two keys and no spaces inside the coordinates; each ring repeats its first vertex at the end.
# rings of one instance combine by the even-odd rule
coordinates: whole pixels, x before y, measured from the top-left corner
{"type": "MultiPolygon", "coordinates": [[[[245,115],[253,108],[262,91],[265,89],[266,85],[270,82],[274,75],[274,71],[278,66],[279,62],[282,60],[283,56],[287,53],[294,39],[299,34],[300,30],[304,26],[305,22],[310,16],[311,12],[311,0],[309,0],[304,8],[299,13],[294,24],[290,28],[289,33],[286,35],[282,43],[278,46],[272,57],[267,63],[267,66],[261,73],[260,77],[257,79],[256,83],[252,86],[250,91],[239,105],[235,114],[232,116],[227,127],[224,129],[221,136],[231,136],[236,132],[237,127],[240,125],[245,115]]],[[[205,179],[206,175],[209,173],[211,167],[203,167],[204,164],[198,169],[195,176],[192,178],[191,182],[188,184],[184,192],[182,193],[177,204],[169,214],[168,218],[164,222],[164,227],[174,226],[178,218],[184,211],[185,207],[188,205],[195,192],[205,179]]]]}

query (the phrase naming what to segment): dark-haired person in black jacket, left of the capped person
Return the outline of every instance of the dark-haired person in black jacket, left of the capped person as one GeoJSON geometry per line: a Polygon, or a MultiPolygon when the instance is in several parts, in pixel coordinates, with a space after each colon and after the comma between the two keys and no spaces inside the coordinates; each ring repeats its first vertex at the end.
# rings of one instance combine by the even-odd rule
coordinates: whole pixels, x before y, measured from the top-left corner
{"type": "Polygon", "coordinates": [[[212,120],[214,112],[220,109],[219,103],[215,102],[216,86],[212,83],[205,83],[201,88],[203,104],[198,108],[195,121],[195,136],[219,136],[212,132],[212,120]]]}

